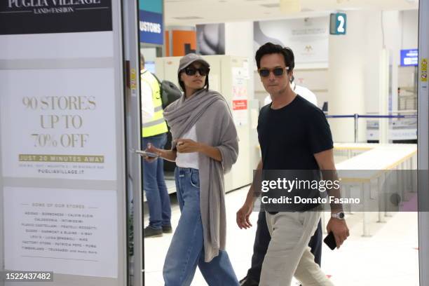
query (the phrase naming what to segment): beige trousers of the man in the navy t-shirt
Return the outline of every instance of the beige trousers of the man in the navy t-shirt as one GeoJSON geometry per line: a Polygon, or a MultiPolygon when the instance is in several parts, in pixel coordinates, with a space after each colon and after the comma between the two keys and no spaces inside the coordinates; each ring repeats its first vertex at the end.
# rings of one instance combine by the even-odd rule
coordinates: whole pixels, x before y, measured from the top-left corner
{"type": "Polygon", "coordinates": [[[271,234],[259,286],[290,286],[295,276],[303,286],[333,286],[320,270],[308,243],[321,212],[266,212],[271,234]]]}

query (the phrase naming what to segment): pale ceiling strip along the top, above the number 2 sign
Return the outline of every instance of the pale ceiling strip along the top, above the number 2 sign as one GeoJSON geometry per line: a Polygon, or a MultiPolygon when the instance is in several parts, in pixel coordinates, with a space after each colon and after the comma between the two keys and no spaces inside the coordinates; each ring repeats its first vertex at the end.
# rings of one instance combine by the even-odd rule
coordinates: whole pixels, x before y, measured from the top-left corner
{"type": "Polygon", "coordinates": [[[333,11],[397,11],[418,8],[417,0],[301,0],[301,13],[285,14],[280,11],[279,4],[280,0],[165,0],[165,24],[186,26],[317,17],[333,11]]]}

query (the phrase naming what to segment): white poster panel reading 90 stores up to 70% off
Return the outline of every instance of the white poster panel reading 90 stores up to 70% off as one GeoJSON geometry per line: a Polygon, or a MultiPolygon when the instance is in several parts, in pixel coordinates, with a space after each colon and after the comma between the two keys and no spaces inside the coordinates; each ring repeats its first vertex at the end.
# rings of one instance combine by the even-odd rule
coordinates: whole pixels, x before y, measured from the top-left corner
{"type": "Polygon", "coordinates": [[[4,176],[116,179],[113,69],[8,69],[0,82],[4,176]]]}

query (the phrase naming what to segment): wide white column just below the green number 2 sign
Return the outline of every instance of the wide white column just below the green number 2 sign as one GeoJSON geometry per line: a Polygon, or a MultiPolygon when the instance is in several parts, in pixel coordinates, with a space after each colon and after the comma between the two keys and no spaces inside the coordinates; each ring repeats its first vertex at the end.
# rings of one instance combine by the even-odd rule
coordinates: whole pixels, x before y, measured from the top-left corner
{"type": "MultiPolygon", "coordinates": [[[[347,13],[346,35],[329,36],[329,114],[365,113],[365,13],[347,13]]],[[[353,119],[329,120],[334,142],[354,142],[353,119]]],[[[359,138],[365,134],[359,124],[359,138]]]]}

